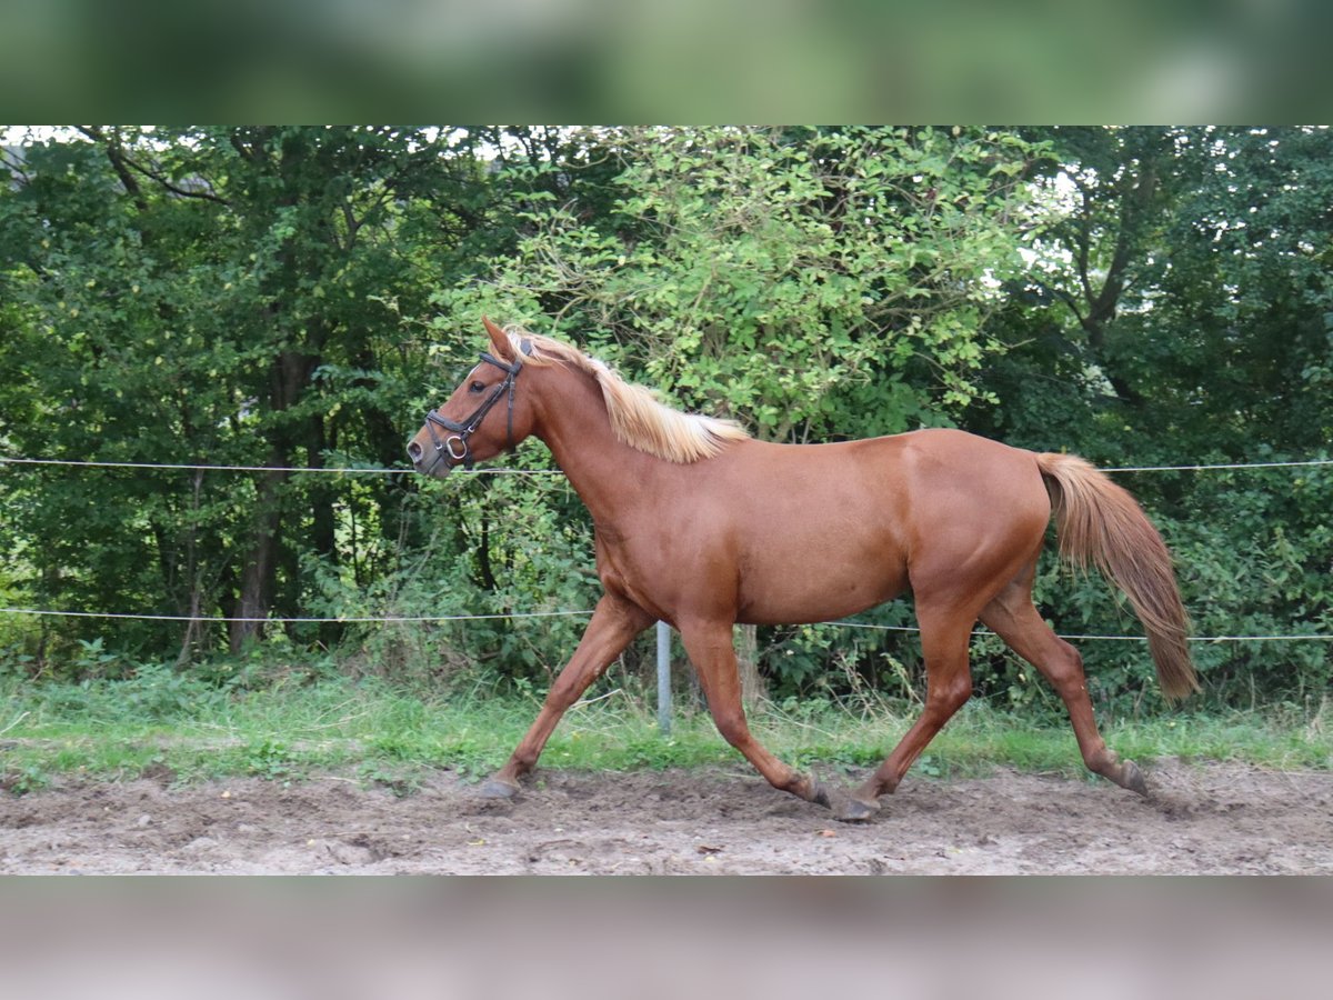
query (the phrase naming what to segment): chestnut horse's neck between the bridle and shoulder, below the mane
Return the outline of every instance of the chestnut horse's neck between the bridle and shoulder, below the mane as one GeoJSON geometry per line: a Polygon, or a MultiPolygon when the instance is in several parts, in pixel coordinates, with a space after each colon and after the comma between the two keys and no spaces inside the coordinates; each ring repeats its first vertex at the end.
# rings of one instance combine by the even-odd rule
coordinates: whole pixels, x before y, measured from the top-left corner
{"type": "Polygon", "coordinates": [[[593,520],[611,524],[628,512],[661,460],[616,437],[601,389],[591,379],[559,369],[552,375],[535,433],[593,520]]]}

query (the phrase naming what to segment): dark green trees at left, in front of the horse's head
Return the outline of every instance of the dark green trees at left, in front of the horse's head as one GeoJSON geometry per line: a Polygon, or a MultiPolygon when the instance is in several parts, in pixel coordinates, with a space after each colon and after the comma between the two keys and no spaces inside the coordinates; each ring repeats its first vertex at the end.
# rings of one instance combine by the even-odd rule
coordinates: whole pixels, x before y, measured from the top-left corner
{"type": "MultiPolygon", "coordinates": [[[[15,489],[33,597],[81,609],[295,615],[307,557],[395,537],[404,480],[351,497],[331,457],[395,461],[424,344],[401,328],[484,228],[484,136],[421,129],[81,131],[11,157],[0,281],[8,447],[263,465],[72,473],[15,489]],[[31,544],[31,543],[29,543],[31,544]]],[[[411,404],[415,411],[416,404],[411,404]]],[[[259,623],[235,623],[233,649],[259,623]]],[[[147,641],[147,636],[144,636],[147,641]]],[[[153,640],[160,641],[160,639],[153,640]]]]}

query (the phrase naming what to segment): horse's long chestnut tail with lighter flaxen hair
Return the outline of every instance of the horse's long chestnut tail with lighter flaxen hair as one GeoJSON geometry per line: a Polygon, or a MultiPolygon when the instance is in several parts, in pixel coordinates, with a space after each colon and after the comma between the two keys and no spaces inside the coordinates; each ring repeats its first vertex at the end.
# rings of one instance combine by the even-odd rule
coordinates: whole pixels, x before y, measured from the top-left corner
{"type": "Polygon", "coordinates": [[[1176,588],[1170,552],[1129,492],[1073,455],[1038,455],[1054,507],[1060,555],[1093,563],[1125,592],[1148,632],[1157,680],[1168,700],[1200,689],[1185,635],[1189,619],[1176,588]]]}

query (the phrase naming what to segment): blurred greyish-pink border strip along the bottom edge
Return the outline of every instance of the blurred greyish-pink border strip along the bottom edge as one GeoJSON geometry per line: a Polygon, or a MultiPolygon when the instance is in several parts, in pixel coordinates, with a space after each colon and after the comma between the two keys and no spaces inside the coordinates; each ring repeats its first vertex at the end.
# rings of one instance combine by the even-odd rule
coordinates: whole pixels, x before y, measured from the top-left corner
{"type": "Polygon", "coordinates": [[[1326,985],[1328,879],[4,879],[7,996],[888,989],[1216,999],[1326,985]]]}

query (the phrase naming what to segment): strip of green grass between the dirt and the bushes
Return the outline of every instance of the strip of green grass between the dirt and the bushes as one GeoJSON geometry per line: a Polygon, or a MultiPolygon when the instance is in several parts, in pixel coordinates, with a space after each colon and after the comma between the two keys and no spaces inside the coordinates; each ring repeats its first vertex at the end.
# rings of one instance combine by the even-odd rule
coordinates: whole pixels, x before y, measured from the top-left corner
{"type": "MultiPolygon", "coordinates": [[[[536,716],[535,696],[411,695],[377,681],[295,677],[245,692],[144,671],[83,685],[0,679],[0,783],[31,792],[59,780],[133,779],[169,768],[175,781],[257,776],[299,781],[343,773],[411,793],[433,769],[479,779],[504,763],[536,716]]],[[[752,713],[756,736],[805,768],[878,764],[910,725],[908,707],[785,704],[752,713]]],[[[1140,761],[1244,761],[1333,768],[1333,727],[1317,711],[1176,715],[1104,720],[1106,741],[1140,761]]],[[[629,771],[748,765],[706,715],[681,713],[657,732],[651,705],[623,691],[576,705],[547,745],[548,768],[629,771]]],[[[925,777],[985,775],[994,767],[1084,773],[1066,724],[969,703],[916,764],[925,777]]]]}

